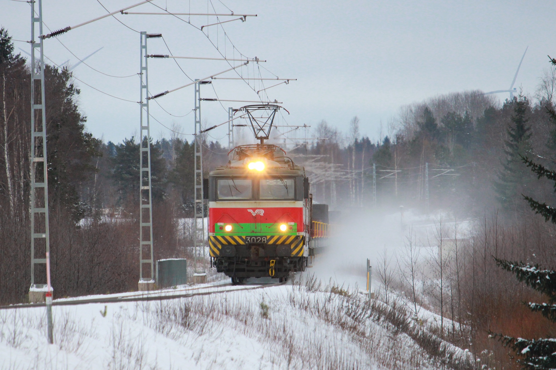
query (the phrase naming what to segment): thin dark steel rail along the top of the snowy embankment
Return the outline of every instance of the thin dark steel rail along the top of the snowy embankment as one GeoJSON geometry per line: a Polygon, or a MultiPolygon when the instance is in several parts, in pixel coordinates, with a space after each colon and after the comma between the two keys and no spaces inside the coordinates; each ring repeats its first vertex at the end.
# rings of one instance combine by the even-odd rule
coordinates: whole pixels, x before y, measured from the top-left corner
{"type": "MultiPolygon", "coordinates": [[[[250,288],[240,288],[240,289],[230,289],[230,290],[217,290],[212,292],[202,292],[202,293],[189,293],[189,294],[180,294],[180,295],[168,295],[168,296],[146,296],[146,297],[135,297],[135,298],[126,298],[126,297],[113,297],[113,298],[93,298],[91,300],[75,300],[75,301],[62,301],[62,302],[52,302],[52,306],[76,306],[76,305],[88,305],[90,303],[117,303],[117,302],[141,302],[141,301],[166,301],[166,300],[173,300],[175,298],[188,298],[193,296],[208,296],[211,294],[216,293],[227,293],[227,292],[238,292],[244,290],[255,290],[261,288],[268,288],[272,286],[280,286],[284,285],[285,282],[281,283],[272,283],[272,284],[264,284],[264,285],[257,285],[250,288]]],[[[8,305],[8,306],[0,306],[0,310],[11,310],[13,308],[34,308],[34,307],[45,307],[46,303],[23,303],[21,305],[8,305]]]]}

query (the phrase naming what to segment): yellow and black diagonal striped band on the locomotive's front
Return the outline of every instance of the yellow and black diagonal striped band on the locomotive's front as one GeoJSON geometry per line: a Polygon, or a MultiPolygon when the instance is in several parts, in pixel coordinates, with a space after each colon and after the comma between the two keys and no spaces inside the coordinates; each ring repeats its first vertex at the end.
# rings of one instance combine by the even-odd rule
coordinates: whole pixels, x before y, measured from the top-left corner
{"type": "MultiPolygon", "coordinates": [[[[246,245],[250,238],[255,236],[209,236],[209,252],[211,257],[220,256],[220,250],[223,245],[246,245]]],[[[264,236],[265,240],[261,240],[264,244],[270,245],[290,245],[292,257],[303,255],[303,245],[305,237],[303,235],[269,235],[264,236]]],[[[257,242],[259,242],[257,240],[257,242]]]]}

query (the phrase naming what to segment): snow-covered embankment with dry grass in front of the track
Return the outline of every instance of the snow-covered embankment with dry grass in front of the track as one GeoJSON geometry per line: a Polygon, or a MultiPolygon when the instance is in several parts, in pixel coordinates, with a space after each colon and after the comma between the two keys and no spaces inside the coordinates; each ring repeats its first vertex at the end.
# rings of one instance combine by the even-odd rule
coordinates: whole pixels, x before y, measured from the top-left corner
{"type": "Polygon", "coordinates": [[[0,311],[2,369],[428,369],[467,354],[380,302],[308,278],[166,301],[0,311]]]}

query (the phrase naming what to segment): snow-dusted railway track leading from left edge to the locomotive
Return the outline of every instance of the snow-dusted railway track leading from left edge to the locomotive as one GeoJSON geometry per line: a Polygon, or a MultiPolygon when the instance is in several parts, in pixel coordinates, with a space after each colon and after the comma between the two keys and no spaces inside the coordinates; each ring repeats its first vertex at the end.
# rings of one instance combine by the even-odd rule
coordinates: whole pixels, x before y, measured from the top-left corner
{"type": "MultiPolygon", "coordinates": [[[[175,290],[172,291],[159,291],[153,293],[145,293],[143,295],[132,295],[132,296],[120,296],[120,297],[110,297],[110,298],[91,298],[86,300],[71,300],[71,301],[53,301],[52,306],[75,306],[75,305],[87,305],[89,303],[117,303],[117,302],[139,302],[139,301],[165,301],[165,300],[173,300],[175,298],[187,298],[193,296],[208,296],[211,294],[219,294],[219,293],[228,293],[228,292],[237,292],[237,291],[245,291],[245,290],[256,290],[262,288],[269,288],[273,286],[280,286],[285,285],[285,282],[281,283],[269,283],[269,284],[257,284],[257,285],[242,285],[238,286],[239,288],[235,289],[220,289],[220,290],[213,290],[208,292],[191,292],[191,293],[183,293],[183,294],[165,294],[165,293],[174,293],[175,290]]],[[[217,285],[217,287],[224,287],[224,286],[231,286],[230,283],[217,285]]],[[[188,290],[201,290],[201,289],[210,289],[212,287],[199,287],[199,288],[189,288],[183,289],[181,291],[188,291],[188,290]]],[[[8,305],[8,306],[0,306],[0,310],[12,310],[14,308],[33,308],[33,307],[46,307],[46,303],[22,303],[20,305],[8,305]]]]}

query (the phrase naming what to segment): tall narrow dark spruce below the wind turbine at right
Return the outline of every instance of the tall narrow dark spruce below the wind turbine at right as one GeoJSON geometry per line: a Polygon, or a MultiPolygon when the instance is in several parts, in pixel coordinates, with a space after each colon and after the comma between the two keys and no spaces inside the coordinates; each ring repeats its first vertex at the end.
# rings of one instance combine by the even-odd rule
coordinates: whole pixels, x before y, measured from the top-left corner
{"type": "Polygon", "coordinates": [[[532,152],[529,119],[529,100],[523,95],[518,99],[506,104],[513,104],[514,114],[507,129],[508,140],[504,142],[506,159],[502,163],[502,171],[498,173],[498,181],[495,183],[495,190],[498,200],[505,208],[515,207],[522,192],[522,187],[527,186],[528,171],[523,166],[522,156],[527,156],[532,152]]]}

